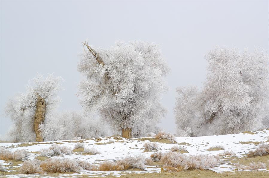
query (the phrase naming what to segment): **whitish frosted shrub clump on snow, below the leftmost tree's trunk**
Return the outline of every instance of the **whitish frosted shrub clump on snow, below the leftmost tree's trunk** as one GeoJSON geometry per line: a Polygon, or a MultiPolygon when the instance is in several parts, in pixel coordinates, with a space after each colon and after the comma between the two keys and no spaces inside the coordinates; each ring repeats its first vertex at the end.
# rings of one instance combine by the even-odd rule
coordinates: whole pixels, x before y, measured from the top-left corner
{"type": "Polygon", "coordinates": [[[66,146],[60,146],[57,144],[51,145],[50,148],[42,148],[39,151],[40,156],[63,156],[65,155],[71,155],[71,148],[68,148],[66,146]]]}

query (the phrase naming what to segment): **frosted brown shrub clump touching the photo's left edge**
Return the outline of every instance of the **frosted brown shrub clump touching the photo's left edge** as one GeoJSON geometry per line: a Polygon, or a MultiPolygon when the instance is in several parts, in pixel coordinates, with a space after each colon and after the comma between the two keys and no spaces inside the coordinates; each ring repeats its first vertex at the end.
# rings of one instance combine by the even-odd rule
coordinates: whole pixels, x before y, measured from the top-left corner
{"type": "Polygon", "coordinates": [[[25,149],[16,150],[14,153],[1,147],[0,149],[0,159],[2,160],[10,160],[15,159],[17,161],[26,161],[28,160],[27,156],[29,155],[29,151],[25,149]]]}

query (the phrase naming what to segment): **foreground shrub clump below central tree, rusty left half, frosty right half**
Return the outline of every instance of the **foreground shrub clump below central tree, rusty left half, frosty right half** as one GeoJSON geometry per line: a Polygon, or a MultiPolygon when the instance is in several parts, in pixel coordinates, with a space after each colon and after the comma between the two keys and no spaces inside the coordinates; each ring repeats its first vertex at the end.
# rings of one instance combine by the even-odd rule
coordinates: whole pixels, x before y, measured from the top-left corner
{"type": "Polygon", "coordinates": [[[105,161],[99,165],[99,171],[123,171],[130,168],[145,170],[145,157],[143,155],[126,156],[117,162],[105,161]]]}

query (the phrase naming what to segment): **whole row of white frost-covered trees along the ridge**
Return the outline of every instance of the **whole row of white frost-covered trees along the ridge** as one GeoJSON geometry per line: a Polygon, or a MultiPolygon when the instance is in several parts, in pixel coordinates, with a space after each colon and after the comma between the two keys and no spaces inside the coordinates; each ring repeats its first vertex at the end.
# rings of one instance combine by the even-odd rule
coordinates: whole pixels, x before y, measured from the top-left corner
{"type": "MultiPolygon", "coordinates": [[[[160,100],[169,67],[158,45],[118,41],[110,48],[83,43],[78,71],[82,111],[57,112],[61,77],[38,75],[7,105],[16,142],[89,138],[112,130],[126,138],[156,132],[165,116],[160,100]],[[92,119],[97,112],[100,119],[92,119]],[[105,127],[104,127],[105,126],[105,127]]],[[[177,88],[180,136],[237,133],[268,124],[268,56],[215,48],[206,55],[204,87],[177,88]],[[267,113],[267,116],[266,116],[267,113]],[[265,122],[262,122],[264,119],[265,122]]]]}

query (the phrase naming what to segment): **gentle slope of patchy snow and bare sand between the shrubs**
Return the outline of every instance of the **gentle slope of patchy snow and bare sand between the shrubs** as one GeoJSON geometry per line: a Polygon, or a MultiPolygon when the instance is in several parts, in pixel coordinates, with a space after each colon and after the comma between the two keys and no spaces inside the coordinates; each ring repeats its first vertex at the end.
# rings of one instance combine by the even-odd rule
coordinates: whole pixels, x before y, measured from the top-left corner
{"type": "MultiPolygon", "coordinates": [[[[145,142],[157,142],[159,151],[168,152],[174,145],[180,145],[186,148],[182,154],[186,155],[215,155],[219,156],[220,164],[210,170],[201,171],[181,171],[177,173],[162,172],[159,162],[147,165],[145,170],[129,169],[125,171],[81,171],[79,173],[50,173],[50,174],[19,174],[18,170],[22,165],[21,161],[4,161],[1,163],[6,172],[0,172],[1,177],[92,177],[92,176],[123,176],[123,177],[268,177],[269,156],[257,156],[247,159],[246,154],[250,150],[255,150],[255,146],[262,142],[268,142],[269,129],[261,131],[247,131],[241,134],[216,135],[216,136],[201,136],[201,137],[176,137],[177,143],[172,144],[169,140],[157,140],[155,138],[112,138],[100,137],[93,139],[81,139],[70,141],[53,141],[53,142],[31,142],[31,143],[1,143],[1,147],[16,151],[26,149],[30,152],[28,159],[44,160],[47,157],[39,156],[39,151],[42,148],[49,148],[51,145],[59,144],[69,148],[74,148],[77,142],[83,142],[86,148],[96,148],[101,154],[83,154],[83,148],[78,148],[72,151],[71,155],[64,155],[65,158],[75,158],[90,162],[93,165],[98,165],[106,160],[116,161],[125,158],[127,155],[144,155],[150,157],[153,152],[145,152],[143,145],[145,142]],[[221,148],[209,149],[212,146],[220,145],[224,150],[232,150],[234,155],[222,156],[224,150],[221,148]],[[264,162],[267,165],[266,169],[259,170],[243,170],[239,165],[248,165],[252,161],[264,162]],[[238,164],[239,163],[239,164],[238,164]]],[[[60,156],[57,156],[60,157],[60,156]]],[[[60,157],[62,158],[62,157],[60,157]]]]}

